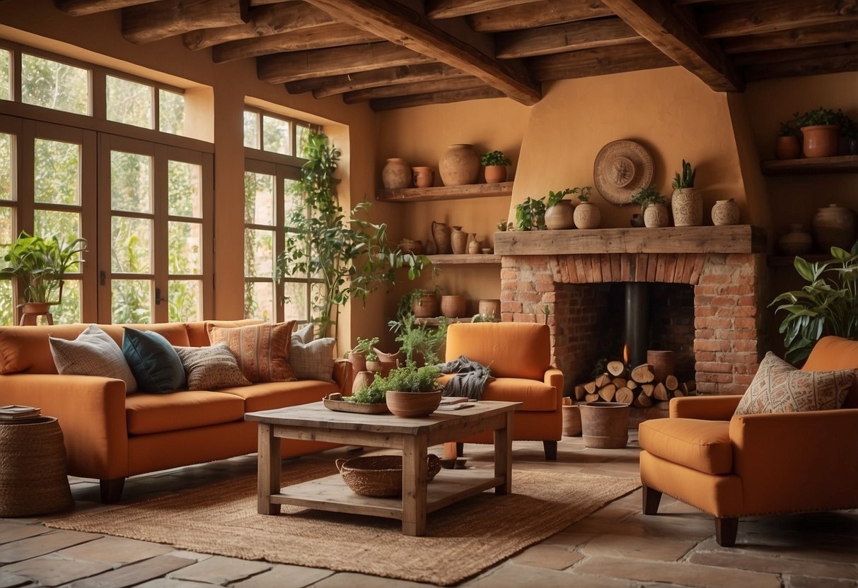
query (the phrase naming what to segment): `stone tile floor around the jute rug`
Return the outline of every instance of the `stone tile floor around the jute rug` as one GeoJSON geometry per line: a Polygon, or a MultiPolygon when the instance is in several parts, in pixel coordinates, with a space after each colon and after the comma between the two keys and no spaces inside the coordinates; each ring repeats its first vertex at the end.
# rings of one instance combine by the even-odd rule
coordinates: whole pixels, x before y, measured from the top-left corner
{"type": "MultiPolygon", "coordinates": [[[[439,449],[439,447],[438,447],[439,449]]],[[[637,430],[625,449],[590,449],[580,437],[559,444],[556,463],[541,443],[517,441],[517,468],[637,476],[637,430]]],[[[487,464],[489,447],[466,445],[469,465],[487,464]]],[[[334,459],[345,448],[300,459],[334,459]]],[[[124,501],[140,501],[256,471],[254,455],[130,478],[124,501]]],[[[69,478],[76,512],[109,508],[98,484],[69,478]]],[[[553,537],[463,582],[462,588],[858,586],[858,510],[742,519],[735,548],[715,543],[712,520],[665,496],[644,516],[637,490],[553,537]]],[[[63,515],[51,515],[63,516],[63,515]]],[[[159,543],[56,531],[48,519],[0,519],[0,588],[407,588],[414,582],[358,573],[190,553],[159,543]]]]}

